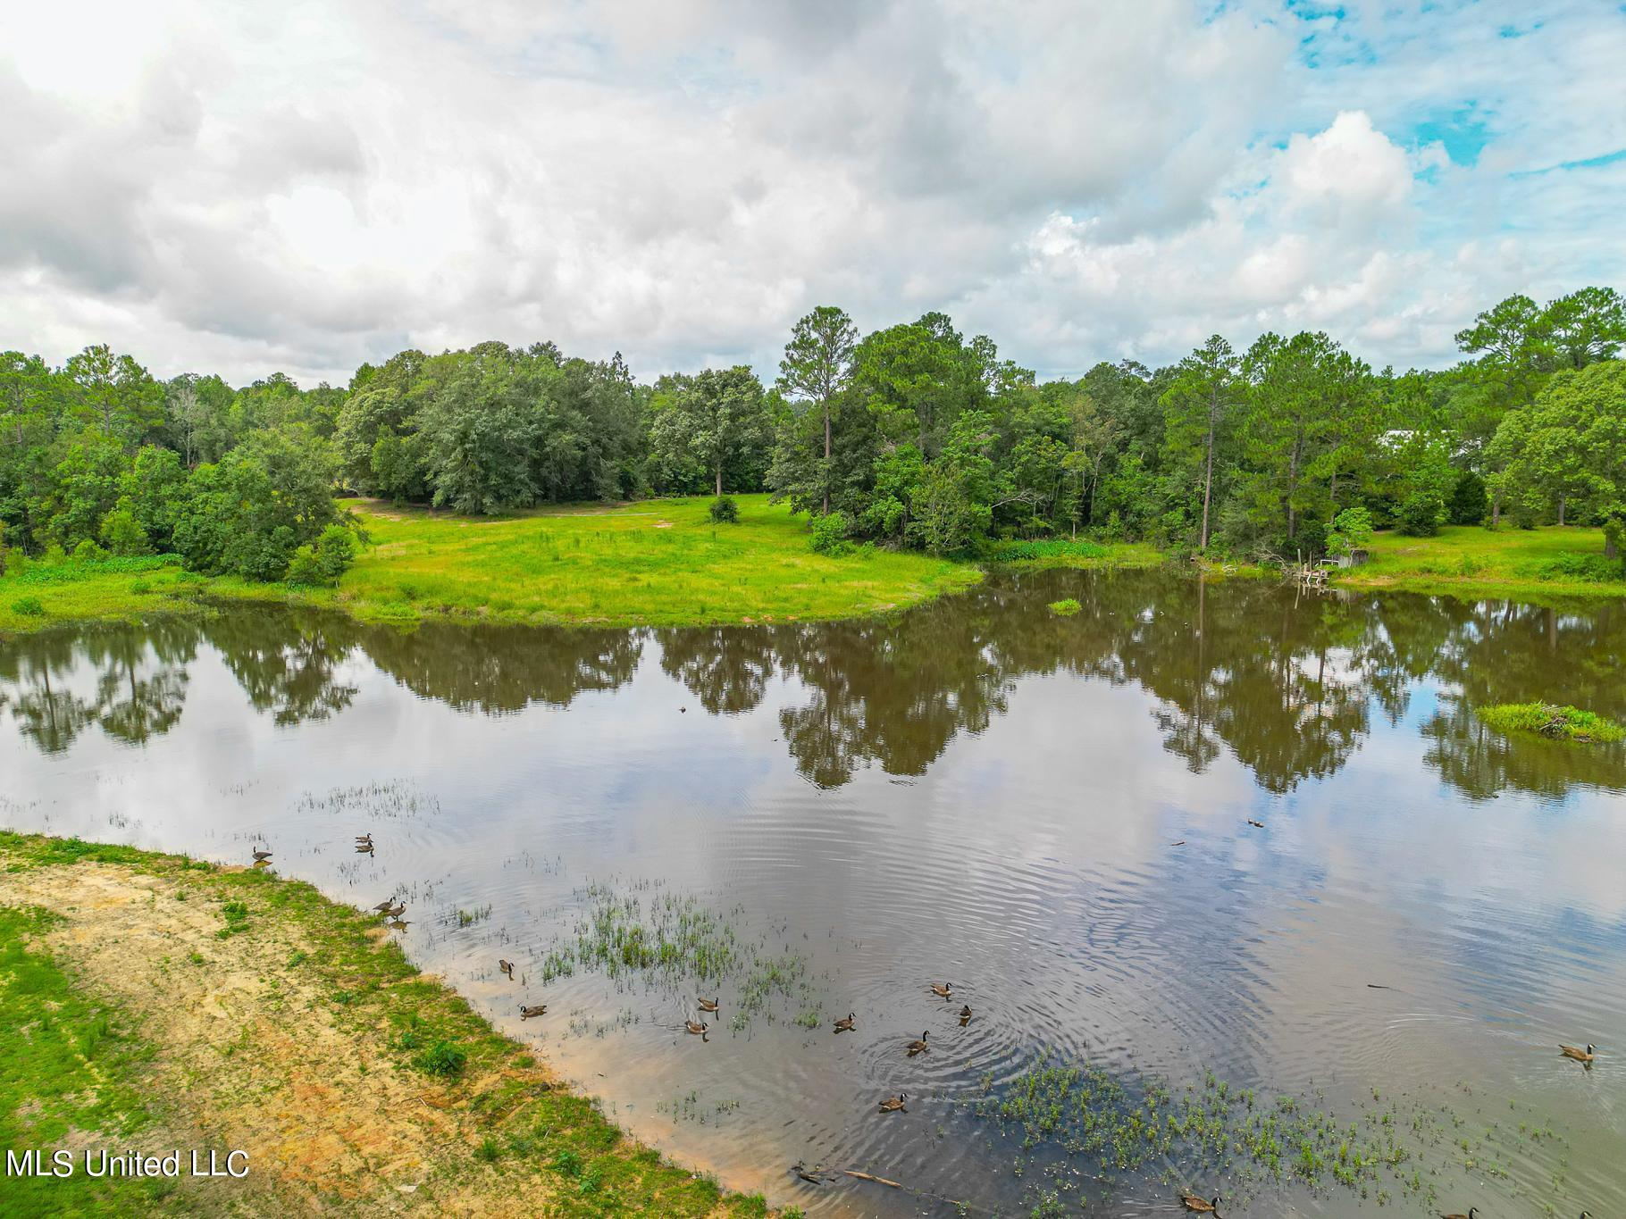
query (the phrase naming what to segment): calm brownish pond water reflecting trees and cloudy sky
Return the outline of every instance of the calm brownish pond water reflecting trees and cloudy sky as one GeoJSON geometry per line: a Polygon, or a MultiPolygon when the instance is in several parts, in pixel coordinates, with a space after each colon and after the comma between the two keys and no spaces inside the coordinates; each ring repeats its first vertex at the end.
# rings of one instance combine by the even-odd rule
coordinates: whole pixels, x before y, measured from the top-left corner
{"type": "Polygon", "coordinates": [[[1052,572],[823,626],[231,611],[0,639],[0,822],[226,861],[265,842],[359,907],[402,892],[424,967],[777,1204],[1133,1214],[1190,1183],[1247,1214],[1385,1188],[1402,1214],[1602,1219],[1626,1209],[1626,753],[1475,717],[1537,697],[1626,718],[1626,610],[1052,572]],[[595,907],[668,896],[780,962],[743,1027],[748,962],[720,985],[543,980],[595,907]],[[702,988],[706,1042],[681,1032],[702,988]],[[1389,1113],[1421,1188],[1024,1151],[967,1104],[1039,1052],[1132,1095],[1211,1076],[1363,1131],[1389,1113]],[[898,1091],[911,1112],[875,1113],[898,1091]]]}

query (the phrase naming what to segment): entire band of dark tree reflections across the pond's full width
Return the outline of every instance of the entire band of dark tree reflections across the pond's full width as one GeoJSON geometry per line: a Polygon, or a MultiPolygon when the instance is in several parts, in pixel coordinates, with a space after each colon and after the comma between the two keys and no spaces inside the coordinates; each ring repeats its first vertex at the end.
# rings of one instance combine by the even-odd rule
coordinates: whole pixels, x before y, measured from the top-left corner
{"type": "MultiPolygon", "coordinates": [[[[180,717],[200,644],[280,725],[350,707],[346,660],[367,658],[415,694],[506,714],[564,707],[637,671],[644,640],[712,715],[759,707],[789,679],[780,730],[798,770],[839,787],[867,766],[920,775],[958,733],[1003,714],[1020,678],[1073,673],[1154,699],[1164,748],[1195,772],[1229,753],[1270,792],[1337,772],[1371,731],[1441,691],[1423,759],[1472,796],[1623,785],[1619,749],[1507,741],[1475,707],[1548,699],[1626,718],[1626,613],[1423,596],[1315,598],[1262,582],[1158,572],[1000,579],[893,618],[696,631],[538,631],[452,624],[397,631],[302,611],[221,614],[0,644],[0,707],[46,753],[89,725],[141,743],[180,717]],[[1049,613],[1072,595],[1076,616],[1049,613]],[[94,683],[70,679],[81,666],[94,683]]],[[[1088,733],[1088,723],[1070,725],[1088,733]]]]}

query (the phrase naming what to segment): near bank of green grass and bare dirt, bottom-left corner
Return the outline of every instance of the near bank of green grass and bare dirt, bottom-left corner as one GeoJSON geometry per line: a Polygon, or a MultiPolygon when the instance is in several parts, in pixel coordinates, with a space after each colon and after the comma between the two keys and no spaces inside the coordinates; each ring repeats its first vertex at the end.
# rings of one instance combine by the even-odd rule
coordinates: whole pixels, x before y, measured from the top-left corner
{"type": "Polygon", "coordinates": [[[0,1141],[78,1164],[8,1180],[3,1214],[767,1214],[270,873],[0,832],[0,1141]],[[249,1175],[94,1180],[85,1147],[237,1147],[249,1175]]]}

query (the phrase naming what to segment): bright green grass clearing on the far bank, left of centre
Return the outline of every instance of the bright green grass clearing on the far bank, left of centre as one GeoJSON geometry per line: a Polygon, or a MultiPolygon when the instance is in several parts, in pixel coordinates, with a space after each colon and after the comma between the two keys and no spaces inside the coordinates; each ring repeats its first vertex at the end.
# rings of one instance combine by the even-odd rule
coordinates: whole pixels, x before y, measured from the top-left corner
{"type": "Polygon", "coordinates": [[[737,496],[740,523],[709,499],[569,505],[470,518],[346,501],[372,546],[337,590],[205,579],[166,559],[31,566],[0,579],[0,631],[81,619],[205,611],[213,601],[330,605],[364,621],[688,626],[857,618],[982,579],[977,567],[907,551],[808,548],[806,520],[766,496],[737,496]]]}

